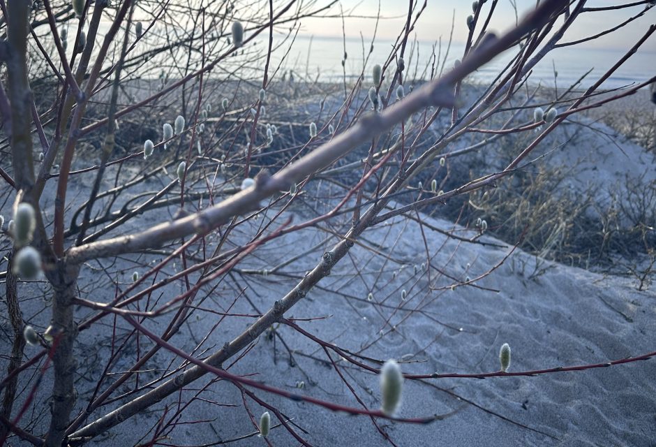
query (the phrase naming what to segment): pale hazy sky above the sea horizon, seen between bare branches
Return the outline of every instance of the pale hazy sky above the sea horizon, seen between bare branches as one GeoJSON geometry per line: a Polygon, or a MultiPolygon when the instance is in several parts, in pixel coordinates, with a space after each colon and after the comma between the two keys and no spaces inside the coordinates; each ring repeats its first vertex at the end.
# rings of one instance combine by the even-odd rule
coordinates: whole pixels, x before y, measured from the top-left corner
{"type": "MultiPolygon", "coordinates": [[[[378,0],[343,0],[342,6],[345,11],[352,15],[346,19],[345,28],[348,37],[359,38],[360,33],[365,38],[373,36],[375,28],[375,16],[378,11],[378,0]]],[[[491,1],[484,5],[484,13],[489,10],[491,1]]],[[[516,0],[519,17],[523,13],[535,8],[535,0],[516,0]]],[[[633,3],[632,1],[597,0],[588,1],[587,7],[611,6],[615,4],[633,3]]],[[[636,15],[643,6],[624,8],[623,10],[590,12],[582,14],[575,26],[565,34],[564,41],[574,41],[580,38],[599,33],[604,29],[615,27],[628,17],[636,15]]],[[[417,38],[423,41],[437,41],[442,36],[442,41],[449,38],[452,27],[452,19],[455,11],[454,41],[463,42],[467,36],[466,17],[472,12],[470,1],[463,0],[427,0],[426,10],[415,29],[417,38]]],[[[384,20],[378,24],[378,36],[384,39],[396,38],[399,31],[403,29],[405,17],[408,13],[408,2],[402,0],[380,0],[380,12],[384,20]]],[[[338,15],[339,6],[335,6],[331,13],[338,15]]],[[[515,12],[510,0],[499,0],[495,15],[491,21],[490,29],[504,31],[512,26],[515,21],[515,12]]],[[[650,24],[656,23],[656,8],[648,11],[643,17],[632,22],[632,24],[596,41],[585,45],[595,48],[606,48],[612,50],[626,49],[644,34],[650,24]]],[[[341,18],[312,18],[303,21],[303,34],[314,36],[342,36],[341,18]]],[[[656,35],[653,35],[643,45],[643,51],[656,52],[656,35]]],[[[656,66],[656,64],[655,64],[656,66]]]]}

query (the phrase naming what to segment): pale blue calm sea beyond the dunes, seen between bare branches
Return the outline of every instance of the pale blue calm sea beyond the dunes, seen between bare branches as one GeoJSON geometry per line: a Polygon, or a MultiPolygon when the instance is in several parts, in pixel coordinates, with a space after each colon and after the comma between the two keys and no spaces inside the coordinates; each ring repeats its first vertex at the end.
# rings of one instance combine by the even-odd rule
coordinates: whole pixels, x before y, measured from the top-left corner
{"type": "MultiPolygon", "coordinates": [[[[259,44],[266,45],[264,41],[259,44]]],[[[283,61],[283,68],[287,71],[292,69],[297,79],[313,82],[343,82],[346,78],[350,82],[363,73],[364,61],[367,58],[367,74],[374,64],[385,64],[390,50],[394,47],[394,41],[379,39],[372,47],[369,41],[361,41],[359,38],[346,38],[344,41],[343,38],[337,37],[297,36],[289,52],[288,46],[279,47],[273,54],[273,61],[283,61]],[[288,54],[285,55],[285,52],[288,54]],[[344,53],[347,57],[342,66],[344,53]]],[[[465,47],[461,43],[452,43],[447,52],[447,43],[444,41],[441,45],[426,41],[409,42],[404,58],[406,79],[428,79],[432,67],[435,66],[435,72],[439,73],[442,64],[446,71],[452,68],[456,59],[463,57],[464,50],[465,47]]],[[[519,47],[515,47],[503,52],[472,73],[468,80],[492,82],[518,51],[519,47]]],[[[567,88],[592,70],[577,86],[590,87],[624,54],[625,51],[583,46],[556,48],[533,68],[529,81],[532,85],[567,88]]],[[[656,52],[639,50],[602,84],[602,88],[615,89],[634,85],[654,75],[656,75],[656,52]]]]}

